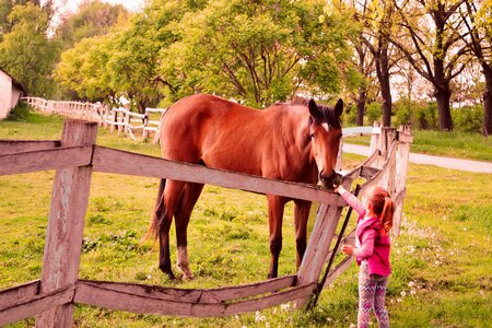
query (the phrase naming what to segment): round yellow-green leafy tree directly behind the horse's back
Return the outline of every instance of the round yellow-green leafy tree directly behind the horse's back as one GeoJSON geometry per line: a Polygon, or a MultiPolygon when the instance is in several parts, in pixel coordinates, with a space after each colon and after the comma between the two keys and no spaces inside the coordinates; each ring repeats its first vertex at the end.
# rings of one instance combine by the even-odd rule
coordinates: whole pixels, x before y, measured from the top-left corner
{"type": "Polygon", "coordinates": [[[348,24],[323,15],[324,1],[210,2],[186,13],[179,42],[163,51],[163,69],[188,91],[262,107],[297,91],[340,92],[350,70],[348,24]],[[173,66],[173,67],[171,67],[173,66]],[[343,67],[344,66],[344,67],[343,67]]]}

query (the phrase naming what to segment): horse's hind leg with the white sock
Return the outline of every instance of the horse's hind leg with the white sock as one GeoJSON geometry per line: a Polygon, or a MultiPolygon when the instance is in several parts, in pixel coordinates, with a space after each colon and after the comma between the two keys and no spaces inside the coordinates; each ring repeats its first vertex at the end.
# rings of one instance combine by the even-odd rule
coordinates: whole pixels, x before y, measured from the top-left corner
{"type": "Polygon", "coordinates": [[[192,279],[194,273],[189,268],[187,230],[191,211],[200,197],[203,185],[187,183],[175,213],[177,266],[183,272],[183,278],[192,279]]]}

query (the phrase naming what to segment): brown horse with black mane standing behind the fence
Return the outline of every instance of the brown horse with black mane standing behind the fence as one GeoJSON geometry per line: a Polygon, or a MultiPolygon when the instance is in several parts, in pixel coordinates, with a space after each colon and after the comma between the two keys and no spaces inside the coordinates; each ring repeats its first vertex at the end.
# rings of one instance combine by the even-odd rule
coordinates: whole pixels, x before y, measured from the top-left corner
{"type": "MultiPolygon", "coordinates": [[[[164,159],[207,165],[296,183],[332,188],[335,165],[342,136],[335,108],[302,104],[276,104],[263,110],[212,96],[185,97],[167,109],[161,120],[161,151],[164,159]]],[[[159,236],[161,270],[174,279],[169,257],[169,229],[175,218],[177,266],[184,278],[192,278],[188,262],[187,227],[202,184],[161,180],[149,234],[159,236]]],[[[267,195],[271,262],[268,278],[278,274],[282,248],[284,206],[295,203],[294,224],[297,268],[306,249],[306,225],[311,202],[267,195]]]]}

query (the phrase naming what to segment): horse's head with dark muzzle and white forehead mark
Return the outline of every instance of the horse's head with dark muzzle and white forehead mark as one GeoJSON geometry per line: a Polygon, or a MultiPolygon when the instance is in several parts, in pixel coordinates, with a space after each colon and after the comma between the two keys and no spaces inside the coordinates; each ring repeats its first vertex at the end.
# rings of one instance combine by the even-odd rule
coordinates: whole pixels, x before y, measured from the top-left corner
{"type": "Polygon", "coordinates": [[[311,99],[309,136],[311,147],[319,181],[327,189],[340,184],[340,175],[335,172],[340,139],[342,137],[340,116],[343,112],[343,101],[339,99],[335,107],[317,105],[311,99]]]}

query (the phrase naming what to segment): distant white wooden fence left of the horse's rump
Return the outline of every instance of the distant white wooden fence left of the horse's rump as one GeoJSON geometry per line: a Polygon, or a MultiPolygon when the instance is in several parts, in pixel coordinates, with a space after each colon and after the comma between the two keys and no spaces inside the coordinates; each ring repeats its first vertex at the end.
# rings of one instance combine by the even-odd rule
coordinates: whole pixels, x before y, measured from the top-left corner
{"type": "Polygon", "coordinates": [[[165,113],[163,108],[145,108],[145,114],[138,114],[125,107],[109,107],[102,103],[58,102],[39,97],[21,99],[42,113],[95,121],[108,128],[112,133],[116,131],[118,136],[124,134],[132,140],[152,139],[153,143],[159,141],[160,118],[165,113]]]}

